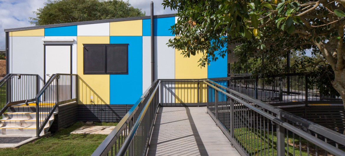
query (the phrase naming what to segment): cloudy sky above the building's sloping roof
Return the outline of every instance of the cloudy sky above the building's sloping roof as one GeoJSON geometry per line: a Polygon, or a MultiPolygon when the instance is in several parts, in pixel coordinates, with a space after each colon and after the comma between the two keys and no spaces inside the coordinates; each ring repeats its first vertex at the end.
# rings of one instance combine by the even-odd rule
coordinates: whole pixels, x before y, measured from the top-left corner
{"type": "MultiPolygon", "coordinates": [[[[163,0],[129,0],[134,8],[142,9],[150,15],[150,2],[154,2],[154,14],[176,13],[170,9],[163,9],[163,0]]],[[[0,49],[5,49],[4,29],[34,26],[29,17],[36,17],[34,11],[43,8],[47,0],[0,0],[0,49]]]]}

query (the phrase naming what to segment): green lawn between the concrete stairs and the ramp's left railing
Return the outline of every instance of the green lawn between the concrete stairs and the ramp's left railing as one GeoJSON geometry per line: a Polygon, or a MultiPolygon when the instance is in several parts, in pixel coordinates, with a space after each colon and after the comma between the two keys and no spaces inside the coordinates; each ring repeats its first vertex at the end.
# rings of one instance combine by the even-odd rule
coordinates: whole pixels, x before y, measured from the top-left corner
{"type": "MultiPolygon", "coordinates": [[[[0,155],[17,156],[84,156],[91,155],[102,143],[107,135],[101,134],[70,134],[75,129],[84,126],[83,122],[77,122],[68,128],[62,128],[59,132],[48,138],[41,138],[36,142],[23,145],[19,148],[0,148],[0,155]]],[[[116,126],[117,123],[95,123],[98,126],[116,126]]]]}

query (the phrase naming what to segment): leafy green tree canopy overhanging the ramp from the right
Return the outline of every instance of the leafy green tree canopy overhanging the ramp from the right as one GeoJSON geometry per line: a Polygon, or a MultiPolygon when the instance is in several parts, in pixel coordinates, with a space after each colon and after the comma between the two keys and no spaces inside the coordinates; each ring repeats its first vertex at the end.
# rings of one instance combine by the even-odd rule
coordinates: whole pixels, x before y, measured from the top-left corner
{"type": "Polygon", "coordinates": [[[187,57],[203,53],[201,66],[230,52],[215,53],[226,44],[241,44],[235,49],[240,60],[278,60],[291,50],[311,49],[318,61],[304,63],[331,66],[331,83],[345,107],[345,0],[164,0],[163,5],[179,17],[172,31],[180,37],[168,45],[187,57]]]}

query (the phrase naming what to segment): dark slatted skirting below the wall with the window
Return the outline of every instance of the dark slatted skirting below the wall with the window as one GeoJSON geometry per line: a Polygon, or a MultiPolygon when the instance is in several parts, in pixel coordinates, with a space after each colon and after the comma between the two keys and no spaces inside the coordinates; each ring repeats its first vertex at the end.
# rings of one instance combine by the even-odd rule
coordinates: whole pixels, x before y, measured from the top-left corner
{"type": "Polygon", "coordinates": [[[120,122],[132,104],[78,104],[78,121],[120,122]]]}

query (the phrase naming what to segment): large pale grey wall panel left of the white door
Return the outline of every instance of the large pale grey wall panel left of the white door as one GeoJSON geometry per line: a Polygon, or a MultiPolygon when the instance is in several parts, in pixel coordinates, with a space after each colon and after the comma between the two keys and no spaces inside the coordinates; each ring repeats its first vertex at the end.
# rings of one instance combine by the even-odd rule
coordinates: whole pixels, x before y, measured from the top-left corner
{"type": "Polygon", "coordinates": [[[38,74],[43,84],[43,37],[12,37],[10,48],[11,73],[38,74]]]}

